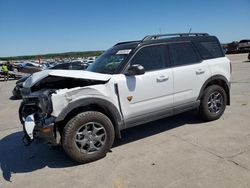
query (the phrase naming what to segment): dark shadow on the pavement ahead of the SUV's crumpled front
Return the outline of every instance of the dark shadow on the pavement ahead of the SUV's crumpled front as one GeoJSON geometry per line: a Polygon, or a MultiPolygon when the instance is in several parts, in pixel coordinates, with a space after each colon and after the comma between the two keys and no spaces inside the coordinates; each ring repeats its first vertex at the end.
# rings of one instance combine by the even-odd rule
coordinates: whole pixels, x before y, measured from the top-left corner
{"type": "Polygon", "coordinates": [[[28,173],[46,166],[65,168],[77,165],[64,154],[61,147],[53,148],[36,142],[26,147],[22,137],[23,132],[20,131],[0,141],[0,167],[6,181],[11,181],[13,173],[28,173]]]}

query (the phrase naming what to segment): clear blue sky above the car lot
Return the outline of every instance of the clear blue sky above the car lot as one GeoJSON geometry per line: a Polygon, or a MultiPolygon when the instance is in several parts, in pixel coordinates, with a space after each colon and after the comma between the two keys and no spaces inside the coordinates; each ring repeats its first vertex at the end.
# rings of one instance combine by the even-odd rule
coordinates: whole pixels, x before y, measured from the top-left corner
{"type": "Polygon", "coordinates": [[[0,57],[106,50],[190,28],[250,39],[250,0],[0,0],[0,57]]]}

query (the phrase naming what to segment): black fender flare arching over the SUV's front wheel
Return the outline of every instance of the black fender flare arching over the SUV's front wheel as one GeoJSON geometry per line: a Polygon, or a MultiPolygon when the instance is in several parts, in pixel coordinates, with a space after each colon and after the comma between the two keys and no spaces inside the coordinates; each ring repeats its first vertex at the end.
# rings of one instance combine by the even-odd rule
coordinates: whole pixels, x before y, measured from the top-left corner
{"type": "Polygon", "coordinates": [[[62,110],[62,112],[57,116],[55,122],[63,121],[67,117],[67,115],[69,115],[73,110],[77,108],[87,107],[90,105],[97,105],[99,107],[108,110],[109,115],[112,117],[112,120],[115,123],[114,128],[116,135],[120,138],[121,137],[120,130],[122,129],[122,127],[124,127],[123,117],[114,104],[112,104],[108,100],[101,98],[96,98],[96,97],[83,98],[69,103],[67,107],[65,107],[62,110]]]}

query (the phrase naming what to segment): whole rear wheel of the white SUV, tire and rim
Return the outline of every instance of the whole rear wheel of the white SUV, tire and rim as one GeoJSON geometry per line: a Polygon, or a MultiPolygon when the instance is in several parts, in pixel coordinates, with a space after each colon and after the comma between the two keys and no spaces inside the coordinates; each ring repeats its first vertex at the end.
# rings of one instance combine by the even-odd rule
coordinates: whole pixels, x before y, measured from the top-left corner
{"type": "Polygon", "coordinates": [[[226,109],[227,95],[219,85],[211,85],[205,89],[201,98],[199,112],[205,121],[219,119],[226,109]]]}

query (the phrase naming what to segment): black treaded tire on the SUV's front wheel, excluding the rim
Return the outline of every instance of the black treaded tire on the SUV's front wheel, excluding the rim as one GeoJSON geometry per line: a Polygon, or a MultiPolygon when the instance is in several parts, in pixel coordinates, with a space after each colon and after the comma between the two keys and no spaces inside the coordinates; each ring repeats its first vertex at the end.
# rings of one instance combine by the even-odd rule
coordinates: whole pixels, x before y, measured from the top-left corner
{"type": "Polygon", "coordinates": [[[88,163],[105,157],[114,142],[114,137],[115,131],[113,124],[106,115],[97,111],[87,111],[76,115],[66,124],[62,134],[62,146],[67,155],[73,160],[80,163],[88,163]],[[75,136],[78,129],[88,122],[98,122],[101,124],[106,130],[107,135],[102,148],[93,154],[80,152],[75,144],[75,136]]]}

